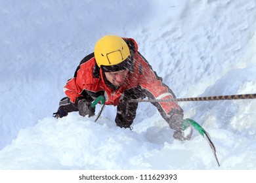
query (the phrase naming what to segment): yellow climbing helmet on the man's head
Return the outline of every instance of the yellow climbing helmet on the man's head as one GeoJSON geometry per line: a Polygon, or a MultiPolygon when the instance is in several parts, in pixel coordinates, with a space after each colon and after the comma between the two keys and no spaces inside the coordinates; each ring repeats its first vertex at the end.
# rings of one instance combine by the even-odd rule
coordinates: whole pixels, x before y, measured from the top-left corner
{"type": "Polygon", "coordinates": [[[98,67],[117,65],[129,56],[131,54],[128,45],[117,35],[105,35],[95,44],[95,59],[98,67]]]}

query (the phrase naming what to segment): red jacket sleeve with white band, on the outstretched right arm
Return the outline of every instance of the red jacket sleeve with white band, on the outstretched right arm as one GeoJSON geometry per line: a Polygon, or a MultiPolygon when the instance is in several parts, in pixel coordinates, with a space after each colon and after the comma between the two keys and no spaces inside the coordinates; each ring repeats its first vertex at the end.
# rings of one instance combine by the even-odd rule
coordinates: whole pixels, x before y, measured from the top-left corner
{"type": "MultiPolygon", "coordinates": [[[[159,77],[156,72],[153,71],[152,67],[149,65],[148,61],[139,54],[140,59],[142,59],[140,68],[140,86],[146,91],[148,98],[150,99],[174,99],[175,94],[173,91],[163,84],[162,78],[159,77]]],[[[178,103],[172,102],[159,102],[152,103],[155,105],[160,114],[167,118],[167,114],[177,112],[183,112],[182,108],[179,107],[178,103]]]]}

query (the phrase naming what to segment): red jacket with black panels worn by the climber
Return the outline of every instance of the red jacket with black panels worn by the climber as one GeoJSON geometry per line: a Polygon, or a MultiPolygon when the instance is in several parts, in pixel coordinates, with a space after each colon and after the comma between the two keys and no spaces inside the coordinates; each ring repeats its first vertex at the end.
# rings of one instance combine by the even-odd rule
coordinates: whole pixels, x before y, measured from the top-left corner
{"type": "MultiPolygon", "coordinates": [[[[72,103],[76,102],[77,97],[85,97],[84,95],[88,94],[95,99],[96,93],[104,93],[106,105],[116,106],[121,102],[125,91],[133,88],[140,88],[139,91],[146,93],[150,99],[173,99],[175,97],[173,92],[162,83],[161,78],[152,70],[148,61],[140,55],[137,42],[133,39],[123,39],[129,43],[129,48],[135,59],[133,71],[129,72],[126,83],[117,90],[109,87],[104,80],[102,69],[96,65],[94,54],[90,54],[81,61],[74,77],[68,80],[64,87],[64,92],[72,103]]],[[[182,111],[176,102],[161,102],[157,104],[157,107],[165,114],[168,114],[173,108],[182,111]]]]}

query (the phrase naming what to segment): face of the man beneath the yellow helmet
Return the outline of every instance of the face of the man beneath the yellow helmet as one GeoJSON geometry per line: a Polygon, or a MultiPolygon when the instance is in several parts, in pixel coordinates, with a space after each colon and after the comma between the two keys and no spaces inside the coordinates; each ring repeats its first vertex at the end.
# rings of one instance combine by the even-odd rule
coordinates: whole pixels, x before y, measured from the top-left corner
{"type": "Polygon", "coordinates": [[[106,79],[111,82],[114,86],[122,86],[125,83],[125,79],[129,73],[128,69],[121,71],[105,73],[106,79]]]}

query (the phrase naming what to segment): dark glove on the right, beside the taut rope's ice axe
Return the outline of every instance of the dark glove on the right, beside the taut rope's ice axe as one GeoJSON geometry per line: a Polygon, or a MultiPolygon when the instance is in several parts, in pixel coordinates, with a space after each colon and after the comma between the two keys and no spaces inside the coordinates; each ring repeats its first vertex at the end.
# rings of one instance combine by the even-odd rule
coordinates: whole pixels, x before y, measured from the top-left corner
{"type": "Polygon", "coordinates": [[[183,115],[173,114],[169,120],[171,129],[175,129],[173,137],[179,141],[190,140],[192,137],[192,127],[190,125],[183,125],[183,115]],[[185,129],[183,129],[185,128],[185,129]]]}

